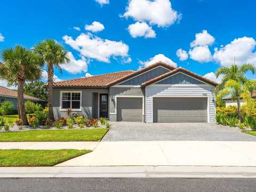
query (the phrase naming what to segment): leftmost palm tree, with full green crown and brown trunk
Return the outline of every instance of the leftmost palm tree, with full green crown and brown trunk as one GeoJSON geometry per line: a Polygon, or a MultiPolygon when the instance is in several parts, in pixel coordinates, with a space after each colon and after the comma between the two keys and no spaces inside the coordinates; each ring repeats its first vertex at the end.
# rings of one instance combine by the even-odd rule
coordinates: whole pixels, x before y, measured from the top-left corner
{"type": "Polygon", "coordinates": [[[18,112],[22,125],[28,125],[24,107],[23,85],[41,77],[42,60],[33,51],[22,46],[6,49],[2,52],[4,62],[0,65],[0,77],[8,85],[18,85],[18,112]]]}

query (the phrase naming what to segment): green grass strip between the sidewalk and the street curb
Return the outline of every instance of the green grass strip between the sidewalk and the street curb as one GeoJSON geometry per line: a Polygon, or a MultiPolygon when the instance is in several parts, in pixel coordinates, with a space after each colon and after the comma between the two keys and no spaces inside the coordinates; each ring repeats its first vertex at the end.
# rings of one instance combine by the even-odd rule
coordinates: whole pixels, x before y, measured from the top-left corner
{"type": "Polygon", "coordinates": [[[0,166],[53,166],[90,150],[0,150],[0,166]]]}

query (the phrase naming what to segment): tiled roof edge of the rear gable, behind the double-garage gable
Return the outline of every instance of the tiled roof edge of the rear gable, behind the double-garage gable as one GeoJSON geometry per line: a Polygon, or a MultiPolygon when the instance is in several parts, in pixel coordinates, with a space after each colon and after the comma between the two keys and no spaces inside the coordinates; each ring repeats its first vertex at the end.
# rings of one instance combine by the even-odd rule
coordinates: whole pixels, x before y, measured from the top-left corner
{"type": "Polygon", "coordinates": [[[115,85],[115,84],[117,84],[117,83],[120,83],[120,82],[122,82],[122,81],[125,81],[126,79],[129,79],[129,78],[131,78],[131,77],[134,77],[134,76],[136,76],[136,75],[138,75],[138,74],[141,74],[141,73],[143,73],[143,72],[145,72],[145,71],[147,71],[147,70],[153,69],[153,68],[158,67],[158,66],[162,66],[162,67],[165,67],[165,68],[170,69],[170,70],[176,69],[175,67],[172,67],[172,66],[167,65],[166,63],[164,63],[164,62],[162,62],[162,61],[159,61],[159,62],[156,62],[156,63],[154,63],[154,64],[152,64],[152,65],[149,65],[148,67],[142,68],[142,69],[140,69],[140,70],[134,71],[134,72],[131,73],[131,74],[128,74],[128,75],[126,75],[126,76],[123,76],[122,78],[116,79],[116,80],[114,80],[114,81],[108,83],[107,85],[108,85],[108,86],[115,85]]]}

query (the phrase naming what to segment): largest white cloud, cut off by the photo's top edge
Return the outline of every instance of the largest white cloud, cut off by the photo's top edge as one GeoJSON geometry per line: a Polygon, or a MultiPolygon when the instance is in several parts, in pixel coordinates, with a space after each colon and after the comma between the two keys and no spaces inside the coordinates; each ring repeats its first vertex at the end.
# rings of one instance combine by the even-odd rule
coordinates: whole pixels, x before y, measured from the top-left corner
{"type": "Polygon", "coordinates": [[[158,27],[167,27],[179,21],[181,14],[172,9],[169,0],[129,0],[123,17],[131,17],[135,21],[148,21],[150,25],[158,27]]]}

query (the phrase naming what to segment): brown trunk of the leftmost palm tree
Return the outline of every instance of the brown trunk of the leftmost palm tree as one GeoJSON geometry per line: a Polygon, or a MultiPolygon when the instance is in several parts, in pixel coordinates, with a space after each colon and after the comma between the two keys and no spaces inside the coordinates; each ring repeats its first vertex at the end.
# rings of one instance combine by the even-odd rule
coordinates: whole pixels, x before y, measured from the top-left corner
{"type": "Polygon", "coordinates": [[[24,105],[23,85],[24,85],[24,81],[18,80],[18,109],[19,109],[19,115],[20,115],[22,125],[28,125],[28,120],[27,120],[27,115],[26,115],[25,105],[24,105]]]}

